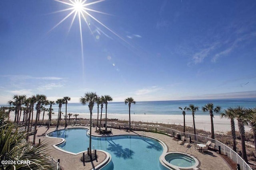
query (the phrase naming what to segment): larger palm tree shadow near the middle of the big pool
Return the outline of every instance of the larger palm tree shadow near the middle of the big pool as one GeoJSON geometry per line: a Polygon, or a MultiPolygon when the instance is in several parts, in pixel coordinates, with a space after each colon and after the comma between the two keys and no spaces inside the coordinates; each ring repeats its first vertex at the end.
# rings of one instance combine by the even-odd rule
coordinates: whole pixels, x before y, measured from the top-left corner
{"type": "Polygon", "coordinates": [[[114,152],[114,154],[117,157],[123,158],[123,159],[132,159],[132,156],[134,155],[133,150],[130,150],[128,148],[123,149],[121,145],[114,143],[114,141],[112,141],[112,143],[108,141],[108,143],[109,143],[108,145],[109,147],[107,148],[107,150],[114,152]]]}

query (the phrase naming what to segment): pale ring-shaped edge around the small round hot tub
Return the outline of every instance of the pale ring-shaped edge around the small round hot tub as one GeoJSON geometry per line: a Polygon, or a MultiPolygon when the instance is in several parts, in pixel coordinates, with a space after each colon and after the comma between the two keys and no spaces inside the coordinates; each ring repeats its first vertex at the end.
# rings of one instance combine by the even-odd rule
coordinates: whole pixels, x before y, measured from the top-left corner
{"type": "Polygon", "coordinates": [[[195,157],[195,156],[193,156],[193,155],[191,155],[191,154],[186,154],[186,153],[184,153],[184,152],[166,152],[165,154],[162,154],[161,156],[160,156],[160,159],[161,159],[161,161],[163,162],[163,164],[165,164],[166,166],[168,166],[168,168],[170,169],[173,169],[173,170],[180,170],[180,169],[182,169],[182,170],[185,170],[185,169],[193,169],[193,168],[196,168],[198,165],[199,165],[199,161],[198,161],[198,159],[195,157]],[[178,154],[184,154],[184,155],[186,155],[186,156],[190,156],[191,158],[193,158],[194,160],[195,160],[195,165],[194,166],[190,166],[190,167],[180,167],[180,166],[175,166],[175,165],[173,165],[173,164],[170,164],[166,159],[165,159],[165,156],[166,155],[168,155],[168,154],[172,154],[172,153],[178,153],[178,154]]]}

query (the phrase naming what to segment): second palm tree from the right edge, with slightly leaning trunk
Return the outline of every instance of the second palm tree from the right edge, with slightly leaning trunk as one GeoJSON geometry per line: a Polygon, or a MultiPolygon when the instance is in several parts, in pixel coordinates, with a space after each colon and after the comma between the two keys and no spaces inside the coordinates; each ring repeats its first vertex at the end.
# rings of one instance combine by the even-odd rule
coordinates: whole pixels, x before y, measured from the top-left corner
{"type": "Polygon", "coordinates": [[[241,106],[237,106],[234,109],[235,109],[235,113],[236,113],[236,119],[238,121],[238,129],[239,129],[240,137],[241,137],[242,158],[244,159],[244,161],[246,163],[248,163],[247,155],[246,155],[246,148],[245,148],[245,131],[244,131],[244,125],[248,125],[248,113],[241,106]]]}

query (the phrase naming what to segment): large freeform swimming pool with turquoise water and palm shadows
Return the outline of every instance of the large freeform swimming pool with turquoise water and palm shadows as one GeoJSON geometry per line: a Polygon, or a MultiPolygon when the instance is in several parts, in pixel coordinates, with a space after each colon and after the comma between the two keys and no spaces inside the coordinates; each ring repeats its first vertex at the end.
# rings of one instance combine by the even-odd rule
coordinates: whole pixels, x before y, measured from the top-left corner
{"type": "MultiPolygon", "coordinates": [[[[48,136],[65,139],[66,142],[58,147],[77,154],[87,150],[89,146],[87,132],[88,129],[85,128],[71,128],[53,131],[48,136]]],[[[160,142],[148,137],[138,135],[92,137],[92,146],[94,149],[104,150],[111,154],[112,162],[108,165],[109,170],[166,169],[159,162],[164,151],[163,146],[160,142]]]]}

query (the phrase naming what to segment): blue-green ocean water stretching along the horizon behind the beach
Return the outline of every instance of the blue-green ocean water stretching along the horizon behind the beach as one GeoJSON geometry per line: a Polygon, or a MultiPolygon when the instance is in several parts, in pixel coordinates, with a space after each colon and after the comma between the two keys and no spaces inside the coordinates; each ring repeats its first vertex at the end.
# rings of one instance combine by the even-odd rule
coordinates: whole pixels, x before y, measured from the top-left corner
{"type": "MultiPolygon", "coordinates": [[[[151,101],[151,102],[136,102],[131,106],[131,114],[159,114],[159,115],[180,115],[182,111],[179,107],[189,106],[194,104],[199,107],[196,111],[197,115],[208,115],[208,112],[202,111],[202,106],[213,103],[214,106],[219,105],[224,111],[228,107],[243,106],[245,108],[256,107],[256,98],[238,98],[238,99],[205,99],[205,100],[170,100],[170,101],[151,101]]],[[[8,106],[6,104],[0,104],[0,106],[8,106]]],[[[49,107],[49,106],[48,106],[49,107]]],[[[55,104],[52,107],[53,112],[58,113],[58,105],[55,104]]],[[[99,108],[100,111],[100,108],[99,108]]],[[[128,104],[124,102],[109,102],[108,114],[127,114],[129,111],[128,104]]],[[[62,105],[62,112],[65,112],[65,104],[62,105]]],[[[105,105],[102,113],[105,113],[105,105]]],[[[88,106],[83,106],[80,103],[68,103],[67,113],[89,113],[88,106]]],[[[97,113],[97,104],[94,104],[93,113],[97,113]]],[[[191,111],[186,111],[191,113],[191,111]]]]}

